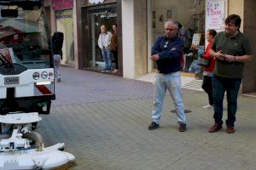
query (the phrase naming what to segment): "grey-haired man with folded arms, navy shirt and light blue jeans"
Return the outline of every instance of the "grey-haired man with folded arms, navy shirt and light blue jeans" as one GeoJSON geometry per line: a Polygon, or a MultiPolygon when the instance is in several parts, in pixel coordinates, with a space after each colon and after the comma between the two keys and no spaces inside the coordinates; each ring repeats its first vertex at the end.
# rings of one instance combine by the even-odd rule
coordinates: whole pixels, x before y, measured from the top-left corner
{"type": "Polygon", "coordinates": [[[150,57],[151,60],[156,61],[158,74],[154,82],[153,122],[148,126],[148,130],[159,127],[166,89],[168,89],[177,111],[178,130],[184,132],[187,127],[180,77],[184,42],[180,37],[177,37],[178,25],[176,21],[166,21],[165,28],[166,36],[157,38],[152,48],[152,56],[150,57]]]}

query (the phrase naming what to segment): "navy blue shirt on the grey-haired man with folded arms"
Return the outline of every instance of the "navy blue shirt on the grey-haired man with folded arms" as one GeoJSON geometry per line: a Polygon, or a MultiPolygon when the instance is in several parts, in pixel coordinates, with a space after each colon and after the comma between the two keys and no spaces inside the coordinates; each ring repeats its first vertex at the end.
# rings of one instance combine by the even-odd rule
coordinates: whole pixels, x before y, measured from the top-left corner
{"type": "Polygon", "coordinates": [[[179,37],[172,39],[158,37],[154,42],[151,54],[159,54],[156,61],[158,71],[163,74],[181,70],[181,57],[183,55],[184,42],[179,37]]]}

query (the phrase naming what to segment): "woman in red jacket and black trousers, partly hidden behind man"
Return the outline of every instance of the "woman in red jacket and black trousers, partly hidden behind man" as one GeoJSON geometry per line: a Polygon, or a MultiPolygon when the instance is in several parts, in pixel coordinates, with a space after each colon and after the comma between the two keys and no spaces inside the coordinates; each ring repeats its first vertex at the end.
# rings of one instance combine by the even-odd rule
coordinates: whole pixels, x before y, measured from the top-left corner
{"type": "Polygon", "coordinates": [[[208,94],[208,98],[209,98],[209,104],[203,106],[203,108],[205,109],[213,109],[213,100],[212,100],[212,72],[214,69],[214,65],[215,65],[215,59],[213,59],[210,54],[209,51],[212,47],[212,42],[213,39],[215,37],[215,35],[217,34],[217,32],[215,30],[208,30],[207,31],[207,50],[206,50],[206,54],[204,54],[204,58],[205,59],[210,59],[210,65],[205,67],[204,72],[203,72],[203,76],[204,76],[204,80],[202,83],[201,88],[203,88],[205,90],[205,92],[208,94]]]}

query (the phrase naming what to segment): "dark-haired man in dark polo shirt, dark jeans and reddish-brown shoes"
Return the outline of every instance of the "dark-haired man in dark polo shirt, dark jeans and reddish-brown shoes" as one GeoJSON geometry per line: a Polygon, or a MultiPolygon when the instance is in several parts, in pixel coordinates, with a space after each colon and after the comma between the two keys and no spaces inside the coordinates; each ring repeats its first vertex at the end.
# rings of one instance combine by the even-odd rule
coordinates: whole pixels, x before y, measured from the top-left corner
{"type": "Polygon", "coordinates": [[[219,32],[210,49],[210,55],[216,58],[212,76],[212,97],[215,124],[208,130],[215,133],[222,128],[223,99],[227,92],[228,119],[226,133],[235,133],[237,96],[241,86],[244,63],[253,58],[250,42],[239,28],[241,18],[231,14],[225,20],[225,31],[219,32]]]}

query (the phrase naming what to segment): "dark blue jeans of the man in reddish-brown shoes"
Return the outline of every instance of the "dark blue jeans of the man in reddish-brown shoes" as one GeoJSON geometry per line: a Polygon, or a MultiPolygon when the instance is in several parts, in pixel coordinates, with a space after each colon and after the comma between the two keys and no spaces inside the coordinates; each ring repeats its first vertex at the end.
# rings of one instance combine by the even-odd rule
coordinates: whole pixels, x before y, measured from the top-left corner
{"type": "Polygon", "coordinates": [[[236,122],[237,96],[241,85],[241,78],[225,78],[212,76],[212,97],[215,123],[222,125],[224,93],[227,92],[228,119],[226,124],[234,127],[236,122]]]}

